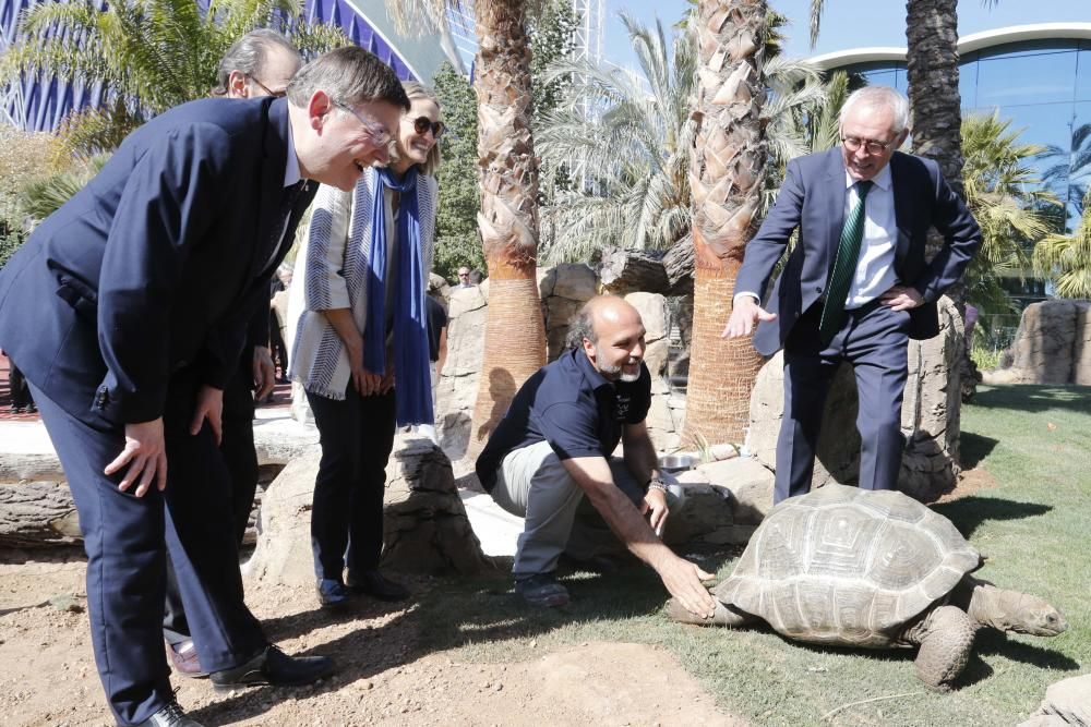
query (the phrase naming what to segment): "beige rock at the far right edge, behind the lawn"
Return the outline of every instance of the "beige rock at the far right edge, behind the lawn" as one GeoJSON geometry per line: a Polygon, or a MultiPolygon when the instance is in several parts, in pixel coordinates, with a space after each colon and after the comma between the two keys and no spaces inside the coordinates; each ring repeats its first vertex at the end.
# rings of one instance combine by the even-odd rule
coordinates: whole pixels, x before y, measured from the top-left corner
{"type": "Polygon", "coordinates": [[[1011,344],[1009,366],[986,384],[1091,385],[1091,301],[1053,300],[1028,305],[1011,344]]]}

